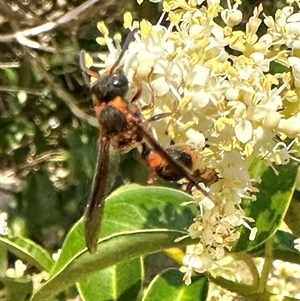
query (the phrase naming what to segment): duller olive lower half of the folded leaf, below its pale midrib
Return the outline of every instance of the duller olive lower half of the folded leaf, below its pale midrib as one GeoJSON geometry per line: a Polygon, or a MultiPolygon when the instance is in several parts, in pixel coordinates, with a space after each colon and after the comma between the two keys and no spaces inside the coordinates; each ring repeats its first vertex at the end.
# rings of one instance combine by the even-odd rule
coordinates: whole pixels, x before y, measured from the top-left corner
{"type": "Polygon", "coordinates": [[[70,285],[79,282],[92,273],[112,266],[126,259],[148,253],[154,253],[164,248],[182,247],[191,244],[191,240],[175,243],[174,240],[183,232],[166,229],[138,230],[124,232],[100,241],[98,251],[89,254],[82,251],[65,263],[59,272],[54,274],[31,301],[52,300],[59,292],[70,285]]]}

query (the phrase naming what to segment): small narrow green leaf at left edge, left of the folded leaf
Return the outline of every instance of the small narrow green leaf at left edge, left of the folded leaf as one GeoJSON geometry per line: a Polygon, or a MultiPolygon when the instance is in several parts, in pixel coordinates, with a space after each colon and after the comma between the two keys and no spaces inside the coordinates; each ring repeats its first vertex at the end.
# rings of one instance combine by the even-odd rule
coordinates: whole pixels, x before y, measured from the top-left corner
{"type": "Polygon", "coordinates": [[[49,253],[30,239],[0,236],[0,243],[5,246],[7,251],[22,261],[34,265],[40,271],[49,272],[54,264],[49,253]]]}

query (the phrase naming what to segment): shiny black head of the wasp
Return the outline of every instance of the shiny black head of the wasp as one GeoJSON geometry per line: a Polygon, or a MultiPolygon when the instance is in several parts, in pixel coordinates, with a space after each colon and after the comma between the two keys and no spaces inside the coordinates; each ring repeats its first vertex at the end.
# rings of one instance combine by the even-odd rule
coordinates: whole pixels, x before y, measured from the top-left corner
{"type": "Polygon", "coordinates": [[[128,91],[128,79],[122,70],[116,70],[112,74],[104,75],[92,87],[92,91],[99,100],[109,102],[116,96],[125,96],[128,91]]]}

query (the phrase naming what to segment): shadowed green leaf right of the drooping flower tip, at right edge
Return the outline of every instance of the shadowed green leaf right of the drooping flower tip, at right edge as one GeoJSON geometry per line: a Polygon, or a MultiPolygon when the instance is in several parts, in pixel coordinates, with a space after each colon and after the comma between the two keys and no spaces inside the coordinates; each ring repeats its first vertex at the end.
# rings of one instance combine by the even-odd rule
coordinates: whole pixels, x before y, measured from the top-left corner
{"type": "Polygon", "coordinates": [[[279,170],[278,176],[263,161],[256,162],[252,167],[252,175],[261,175],[261,183],[257,185],[259,193],[256,201],[245,201],[243,208],[246,216],[255,219],[258,233],[254,241],[249,241],[249,230],[242,228],[235,252],[251,250],[262,244],[282,223],[295,190],[299,164],[291,162],[276,168],[279,170]]]}

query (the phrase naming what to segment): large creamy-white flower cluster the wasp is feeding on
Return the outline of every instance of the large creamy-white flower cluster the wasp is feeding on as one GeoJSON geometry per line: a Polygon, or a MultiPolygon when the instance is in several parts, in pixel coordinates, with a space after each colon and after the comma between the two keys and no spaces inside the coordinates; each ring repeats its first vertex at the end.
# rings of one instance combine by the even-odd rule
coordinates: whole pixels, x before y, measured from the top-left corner
{"type": "MultiPolygon", "coordinates": [[[[194,191],[201,214],[188,230],[198,243],[184,258],[187,284],[192,271],[206,271],[232,247],[239,238],[237,226],[248,227],[254,238],[256,228],[247,224],[252,220],[240,207],[242,198],[255,199],[252,183],[258,179],[248,173],[253,160],[271,166],[299,161],[291,147],[299,147],[300,138],[300,13],[286,6],[273,18],[259,6],[241,31],[235,30],[243,20],[240,1],[231,5],[228,0],[227,8],[219,0],[205,1],[207,6],[202,2],[166,0],[156,25],[124,16],[125,28],[139,28],[122,66],[133,89],[136,82],[143,84],[141,106],[154,92],[150,113],[174,112],[151,123],[157,139],[164,146],[171,139],[193,145],[197,168],[213,168],[220,178],[209,187],[211,200],[194,191]],[[259,35],[262,23],[267,32],[259,35]],[[275,62],[286,72],[271,74],[275,62]],[[276,135],[293,142],[275,145],[276,135]]],[[[109,49],[108,56],[101,56],[108,69],[120,49],[104,24],[98,28],[104,35],[98,41],[109,49]]]]}

